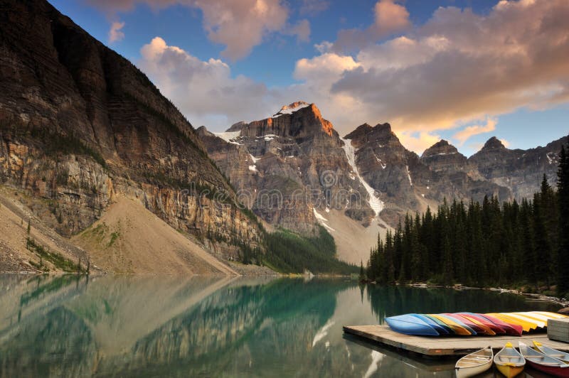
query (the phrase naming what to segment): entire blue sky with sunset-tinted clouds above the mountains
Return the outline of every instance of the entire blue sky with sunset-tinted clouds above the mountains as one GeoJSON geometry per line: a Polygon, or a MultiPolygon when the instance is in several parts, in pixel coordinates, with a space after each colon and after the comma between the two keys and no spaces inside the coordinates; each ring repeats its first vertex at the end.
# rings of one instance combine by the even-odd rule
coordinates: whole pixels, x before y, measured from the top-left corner
{"type": "Polygon", "coordinates": [[[341,136],[389,122],[421,154],[569,134],[568,0],[50,0],[193,126],[314,102],[341,136]]]}

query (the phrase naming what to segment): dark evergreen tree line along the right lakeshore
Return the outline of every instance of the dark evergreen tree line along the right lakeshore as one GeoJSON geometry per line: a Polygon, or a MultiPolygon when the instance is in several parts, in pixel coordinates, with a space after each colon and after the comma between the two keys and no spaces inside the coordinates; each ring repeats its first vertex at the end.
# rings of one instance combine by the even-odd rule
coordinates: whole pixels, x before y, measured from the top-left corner
{"type": "Polygon", "coordinates": [[[371,250],[369,281],[526,286],[569,295],[569,158],[559,154],[557,188],[543,175],[531,199],[446,200],[407,215],[371,250]]]}

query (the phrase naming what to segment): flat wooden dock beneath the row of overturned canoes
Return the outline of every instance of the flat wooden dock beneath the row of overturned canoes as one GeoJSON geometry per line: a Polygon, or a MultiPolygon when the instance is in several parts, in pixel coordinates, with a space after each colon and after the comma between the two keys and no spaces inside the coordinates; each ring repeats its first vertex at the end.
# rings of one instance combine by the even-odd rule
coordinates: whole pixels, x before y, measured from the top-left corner
{"type": "Polygon", "coordinates": [[[346,325],[344,326],[344,332],[425,356],[462,356],[489,345],[494,350],[500,350],[506,342],[511,342],[516,347],[520,341],[525,342],[527,345],[533,345],[532,340],[539,341],[543,345],[562,350],[563,352],[569,352],[568,343],[549,340],[547,333],[532,333],[531,335],[523,335],[521,337],[506,335],[427,338],[403,335],[391,330],[388,325],[346,325]]]}

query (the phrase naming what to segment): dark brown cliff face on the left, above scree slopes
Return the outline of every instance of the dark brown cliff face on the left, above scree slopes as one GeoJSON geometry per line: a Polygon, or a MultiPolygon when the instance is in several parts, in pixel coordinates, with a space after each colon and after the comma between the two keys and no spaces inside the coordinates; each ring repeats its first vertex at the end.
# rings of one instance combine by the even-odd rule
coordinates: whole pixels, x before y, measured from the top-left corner
{"type": "Polygon", "coordinates": [[[176,107],[42,0],[0,0],[0,183],[40,198],[64,235],[117,195],[198,237],[259,231],[176,107]]]}

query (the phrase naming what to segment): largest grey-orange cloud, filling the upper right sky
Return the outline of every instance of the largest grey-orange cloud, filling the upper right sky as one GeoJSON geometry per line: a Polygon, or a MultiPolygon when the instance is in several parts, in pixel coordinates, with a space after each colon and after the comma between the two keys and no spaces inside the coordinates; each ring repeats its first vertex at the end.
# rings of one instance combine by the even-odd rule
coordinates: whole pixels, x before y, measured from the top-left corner
{"type": "Polygon", "coordinates": [[[362,48],[356,68],[330,78],[331,95],[399,131],[545,109],[568,99],[568,19],[565,0],[501,1],[484,16],[440,8],[405,36],[362,48]]]}

